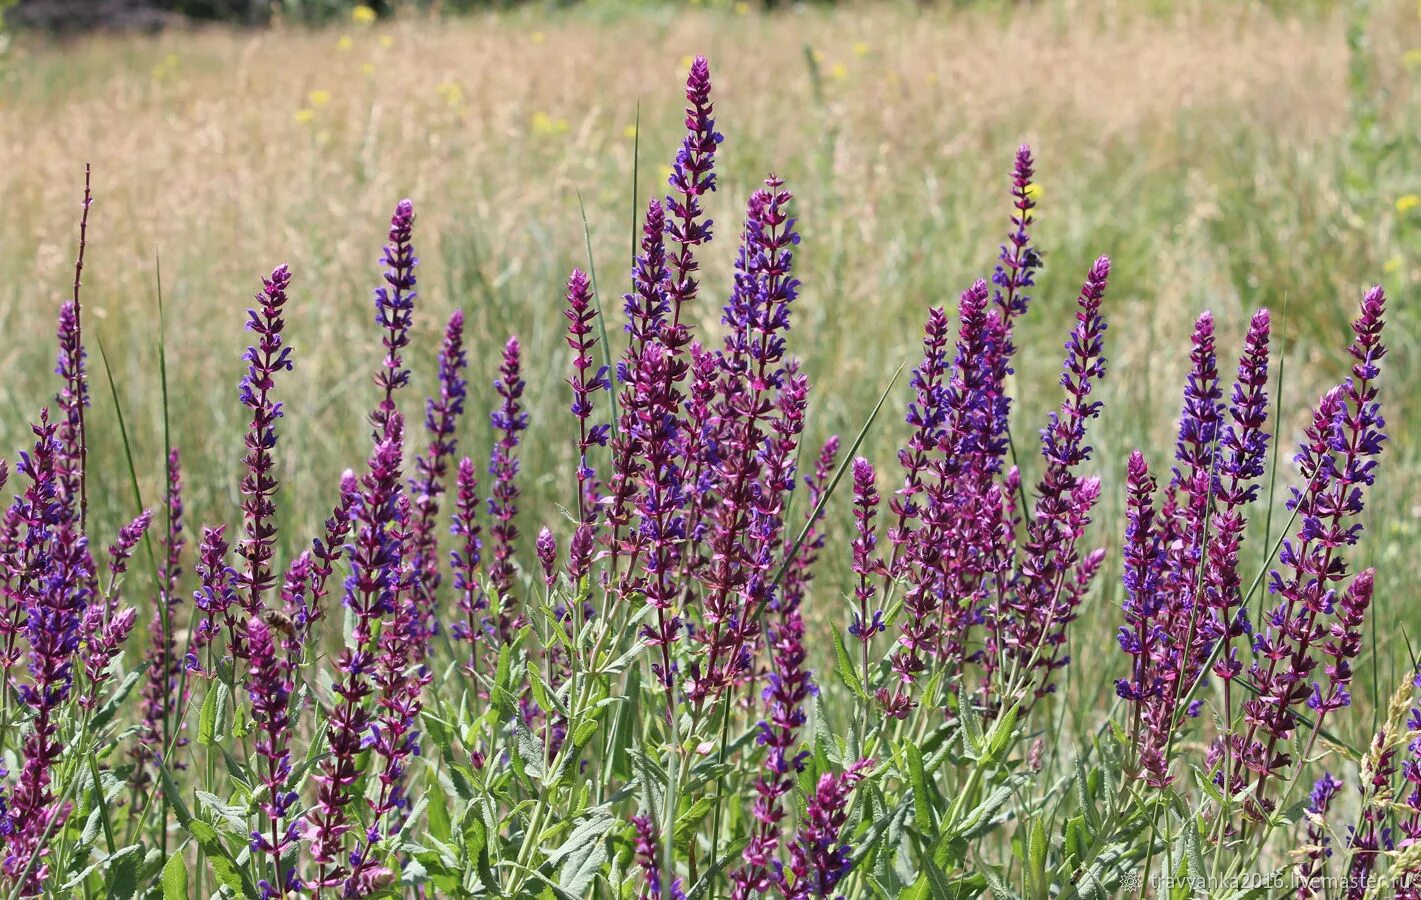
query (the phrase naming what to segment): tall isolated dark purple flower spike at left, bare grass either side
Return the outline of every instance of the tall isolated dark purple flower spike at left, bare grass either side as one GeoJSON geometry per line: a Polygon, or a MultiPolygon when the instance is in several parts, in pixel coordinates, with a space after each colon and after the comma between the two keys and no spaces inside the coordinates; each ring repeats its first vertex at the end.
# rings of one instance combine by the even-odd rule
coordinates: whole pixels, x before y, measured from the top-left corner
{"type": "Polygon", "coordinates": [[[264,607],[263,594],[276,587],[271,556],[276,553],[273,516],[277,481],[271,451],[276,448],[276,421],[281,418],[281,404],[271,398],[271,390],[276,373],[291,370],[291,348],[281,341],[281,330],[286,327],[281,316],[290,283],[291,273],[286,266],[277,266],[271,277],[261,282],[261,293],[257,294],[260,309],[247,310],[247,330],[257,336],[257,343],[247,348],[247,374],[237,391],[242,405],[252,409],[247,454],[242,459],[246,466],[242,478],[244,537],[237,542],[237,556],[247,563],[246,572],[237,576],[237,584],[243,591],[242,604],[250,616],[260,614],[264,607]]]}

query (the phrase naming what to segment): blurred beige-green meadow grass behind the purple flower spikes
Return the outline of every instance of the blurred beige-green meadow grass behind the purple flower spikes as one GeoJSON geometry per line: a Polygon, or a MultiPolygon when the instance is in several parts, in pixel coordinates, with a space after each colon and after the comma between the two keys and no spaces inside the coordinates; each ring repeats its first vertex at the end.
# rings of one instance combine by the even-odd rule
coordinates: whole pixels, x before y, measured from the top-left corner
{"type": "MultiPolygon", "coordinates": [[[[891,373],[915,363],[928,306],[952,304],[990,274],[1007,226],[1012,152],[1033,145],[1047,264],[1019,340],[1015,429],[1032,472],[1034,429],[1059,402],[1076,287],[1090,260],[1110,253],[1111,371],[1091,464],[1107,482],[1098,542],[1118,543],[1128,451],[1145,446],[1157,466],[1168,462],[1201,310],[1219,320],[1225,373],[1250,311],[1275,310],[1287,353],[1286,466],[1309,405],[1346,373],[1361,290],[1381,280],[1393,297],[1383,388],[1393,442],[1356,555],[1357,564],[1380,566],[1377,667],[1364,660],[1358,670],[1381,694],[1394,682],[1418,623],[1421,573],[1414,3],[764,11],[595,0],[458,18],[340,7],[330,18],[318,30],[279,17],[264,30],[20,34],[0,57],[0,446],[27,441],[27,422],[55,387],[54,314],[72,277],[88,161],[98,533],[131,516],[134,500],[92,338],[114,365],[152,505],[162,459],[161,262],[189,523],[230,520],[244,309],[259,276],[287,262],[297,367],[279,387],[280,503],[287,547],[308,540],[341,469],[368,452],[361,422],[379,354],[369,291],[384,222],[402,196],[415,200],[422,257],[406,415],[419,414],[415,394],[433,385],[443,318],[462,307],[473,382],[462,451],[486,458],[497,347],[522,337],[531,407],[522,526],[531,535],[557,525],[573,471],[560,304],[567,270],[585,263],[578,198],[604,304],[617,310],[634,188],[642,202],[664,192],[685,68],[703,53],[726,142],[720,191],[708,202],[718,239],[703,255],[699,323],[716,327],[745,196],[773,169],[799,198],[804,291],[791,348],[814,384],[816,446],[830,432],[855,432],[891,373]]],[[[905,398],[899,384],[864,448],[888,473],[905,398]]],[[[848,522],[840,498],[834,527],[843,533],[848,522]]],[[[1256,553],[1260,533],[1252,545],[1256,553]]],[[[841,621],[831,589],[847,557],[824,562],[814,616],[841,621]]],[[[1107,573],[1074,631],[1071,673],[1081,681],[1069,690],[1067,727],[1108,701],[1101,673],[1120,667],[1117,582],[1107,573]]]]}

